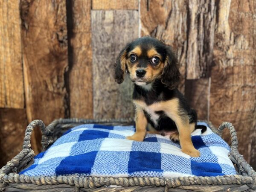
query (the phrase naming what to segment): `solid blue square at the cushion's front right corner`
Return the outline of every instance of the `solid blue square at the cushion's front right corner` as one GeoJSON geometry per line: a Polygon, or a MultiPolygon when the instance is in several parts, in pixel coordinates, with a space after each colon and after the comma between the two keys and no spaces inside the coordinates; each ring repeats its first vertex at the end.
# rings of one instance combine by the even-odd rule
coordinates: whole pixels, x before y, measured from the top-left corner
{"type": "Polygon", "coordinates": [[[224,175],[221,166],[218,163],[198,163],[191,160],[191,171],[193,175],[203,177],[224,175]]]}

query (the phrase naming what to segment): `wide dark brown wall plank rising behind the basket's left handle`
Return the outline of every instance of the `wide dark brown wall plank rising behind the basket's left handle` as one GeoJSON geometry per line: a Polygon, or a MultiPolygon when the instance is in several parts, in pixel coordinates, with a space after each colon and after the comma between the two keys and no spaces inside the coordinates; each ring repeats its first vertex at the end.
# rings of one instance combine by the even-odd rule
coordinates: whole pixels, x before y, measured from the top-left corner
{"type": "MultiPolygon", "coordinates": [[[[20,1],[28,121],[64,117],[67,61],[66,1],[20,1]]],[[[38,145],[41,133],[35,130],[38,145]]]]}

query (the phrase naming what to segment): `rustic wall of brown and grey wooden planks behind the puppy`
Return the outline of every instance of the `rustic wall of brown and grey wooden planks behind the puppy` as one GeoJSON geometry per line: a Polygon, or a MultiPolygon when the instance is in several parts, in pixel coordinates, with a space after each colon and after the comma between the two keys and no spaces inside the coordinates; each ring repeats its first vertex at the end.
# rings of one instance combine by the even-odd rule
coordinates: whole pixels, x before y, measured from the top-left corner
{"type": "Polygon", "coordinates": [[[198,117],[233,122],[256,168],[255,10],[253,0],[0,1],[0,166],[32,119],[132,117],[133,85],[114,82],[113,64],[151,35],[176,51],[179,89],[198,117]]]}

